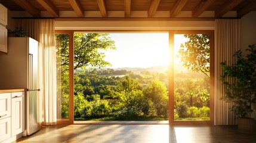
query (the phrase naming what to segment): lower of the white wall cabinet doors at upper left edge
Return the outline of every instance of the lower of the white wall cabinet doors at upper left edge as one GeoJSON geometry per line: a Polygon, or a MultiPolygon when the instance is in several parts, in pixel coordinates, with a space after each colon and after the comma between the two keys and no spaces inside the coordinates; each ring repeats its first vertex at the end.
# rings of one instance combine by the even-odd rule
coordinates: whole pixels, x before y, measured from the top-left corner
{"type": "Polygon", "coordinates": [[[7,29],[0,24],[0,51],[7,53],[7,29]]]}

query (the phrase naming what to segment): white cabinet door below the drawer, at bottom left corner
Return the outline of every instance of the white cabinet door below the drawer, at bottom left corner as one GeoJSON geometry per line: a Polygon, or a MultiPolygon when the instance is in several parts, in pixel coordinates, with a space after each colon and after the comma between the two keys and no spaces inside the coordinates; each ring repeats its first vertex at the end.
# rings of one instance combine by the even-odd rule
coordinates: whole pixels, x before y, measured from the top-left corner
{"type": "Polygon", "coordinates": [[[0,142],[11,138],[11,117],[0,120],[0,142]]]}

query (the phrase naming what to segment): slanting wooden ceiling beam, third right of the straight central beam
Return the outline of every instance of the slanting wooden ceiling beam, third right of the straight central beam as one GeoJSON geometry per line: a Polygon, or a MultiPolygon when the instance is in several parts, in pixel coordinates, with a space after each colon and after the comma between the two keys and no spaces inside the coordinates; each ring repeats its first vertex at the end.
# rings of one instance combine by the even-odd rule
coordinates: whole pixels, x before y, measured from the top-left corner
{"type": "Polygon", "coordinates": [[[214,3],[215,0],[201,0],[201,2],[196,5],[195,9],[192,11],[192,17],[199,17],[209,6],[214,3]]]}

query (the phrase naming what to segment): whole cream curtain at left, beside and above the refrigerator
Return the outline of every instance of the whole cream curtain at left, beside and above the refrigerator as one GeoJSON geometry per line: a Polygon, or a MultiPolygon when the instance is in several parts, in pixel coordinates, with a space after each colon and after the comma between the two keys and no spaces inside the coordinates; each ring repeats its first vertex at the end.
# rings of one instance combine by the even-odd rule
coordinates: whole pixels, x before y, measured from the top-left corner
{"type": "Polygon", "coordinates": [[[56,51],[54,19],[17,19],[16,27],[23,27],[28,36],[39,44],[39,86],[42,88],[42,124],[56,125],[56,51]]]}

